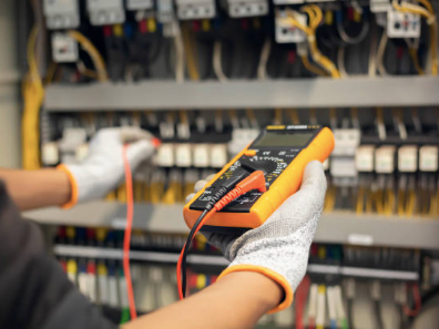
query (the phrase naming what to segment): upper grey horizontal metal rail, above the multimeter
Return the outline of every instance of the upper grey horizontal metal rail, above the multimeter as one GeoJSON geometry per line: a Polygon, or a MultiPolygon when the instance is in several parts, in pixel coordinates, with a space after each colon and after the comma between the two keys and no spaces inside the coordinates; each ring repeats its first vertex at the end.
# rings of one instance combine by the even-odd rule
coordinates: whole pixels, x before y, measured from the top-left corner
{"type": "Polygon", "coordinates": [[[439,104],[439,78],[171,81],[50,85],[49,112],[175,109],[370,107],[439,104]]]}

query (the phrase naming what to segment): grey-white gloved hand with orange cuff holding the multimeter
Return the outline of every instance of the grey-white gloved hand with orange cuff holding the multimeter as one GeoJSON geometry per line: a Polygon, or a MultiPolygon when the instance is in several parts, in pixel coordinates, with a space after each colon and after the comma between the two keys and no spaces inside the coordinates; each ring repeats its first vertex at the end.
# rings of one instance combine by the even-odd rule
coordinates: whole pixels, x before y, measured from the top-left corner
{"type": "MultiPolygon", "coordinates": [[[[195,192],[207,182],[197,182],[195,192]]],[[[323,165],[314,161],[305,168],[300,189],[286,199],[262,226],[239,237],[204,233],[208,243],[222,249],[231,261],[218,279],[233,271],[261,273],[278,282],[285,291],[284,300],[270,312],[288,307],[293,302],[293,291],[306,273],[309,247],[321,215],[325,193],[323,165]]]]}

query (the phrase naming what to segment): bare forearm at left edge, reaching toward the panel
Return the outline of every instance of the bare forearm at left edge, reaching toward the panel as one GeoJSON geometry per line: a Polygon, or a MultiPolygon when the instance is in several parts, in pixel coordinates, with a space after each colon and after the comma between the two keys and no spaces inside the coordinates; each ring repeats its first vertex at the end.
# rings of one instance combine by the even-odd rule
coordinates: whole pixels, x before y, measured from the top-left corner
{"type": "Polygon", "coordinates": [[[0,179],[21,210],[60,206],[70,199],[71,186],[64,172],[0,169],[0,179]]]}

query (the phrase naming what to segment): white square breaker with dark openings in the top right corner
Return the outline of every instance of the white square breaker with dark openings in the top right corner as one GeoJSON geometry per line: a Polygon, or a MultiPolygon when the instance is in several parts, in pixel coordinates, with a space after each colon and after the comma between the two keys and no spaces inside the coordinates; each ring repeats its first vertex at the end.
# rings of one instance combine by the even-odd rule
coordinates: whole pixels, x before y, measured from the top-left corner
{"type": "Polygon", "coordinates": [[[387,12],[387,35],[389,38],[420,38],[421,23],[419,14],[404,13],[396,10],[387,12]]]}

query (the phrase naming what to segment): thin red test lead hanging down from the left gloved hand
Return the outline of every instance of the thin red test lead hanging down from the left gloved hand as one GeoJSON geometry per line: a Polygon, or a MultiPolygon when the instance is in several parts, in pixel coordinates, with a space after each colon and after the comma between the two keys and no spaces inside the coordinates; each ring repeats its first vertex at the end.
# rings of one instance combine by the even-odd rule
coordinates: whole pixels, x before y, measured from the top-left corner
{"type": "Polygon", "coordinates": [[[133,177],[131,174],[130,163],[126,156],[127,147],[129,145],[124,145],[122,151],[123,167],[125,171],[125,185],[126,185],[126,226],[125,226],[125,234],[123,237],[123,273],[126,281],[130,316],[131,319],[134,320],[135,318],[137,318],[137,312],[135,311],[133,282],[131,280],[131,271],[130,271],[130,244],[131,244],[131,230],[133,228],[134,198],[133,198],[133,177]]]}

